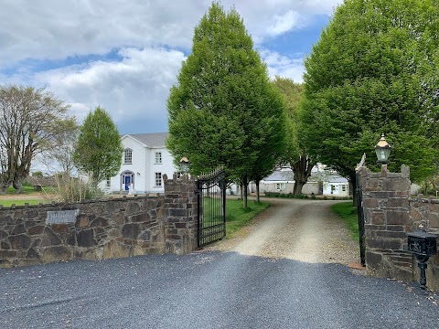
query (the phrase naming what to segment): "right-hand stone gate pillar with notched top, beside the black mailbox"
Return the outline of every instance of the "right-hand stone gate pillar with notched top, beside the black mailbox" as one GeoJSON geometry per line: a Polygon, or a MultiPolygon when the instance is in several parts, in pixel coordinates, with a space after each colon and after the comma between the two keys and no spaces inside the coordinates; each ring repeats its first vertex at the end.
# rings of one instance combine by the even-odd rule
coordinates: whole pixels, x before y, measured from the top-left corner
{"type": "Polygon", "coordinates": [[[370,276],[412,280],[412,254],[407,251],[406,233],[412,231],[410,214],[410,170],[380,173],[360,169],[365,219],[366,268],[370,276]]]}

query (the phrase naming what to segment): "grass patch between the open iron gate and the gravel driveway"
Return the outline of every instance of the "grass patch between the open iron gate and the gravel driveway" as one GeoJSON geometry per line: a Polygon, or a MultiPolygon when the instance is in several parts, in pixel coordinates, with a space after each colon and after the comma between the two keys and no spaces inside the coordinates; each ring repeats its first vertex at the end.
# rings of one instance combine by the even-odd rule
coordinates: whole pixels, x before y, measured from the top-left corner
{"type": "Polygon", "coordinates": [[[242,200],[226,201],[226,236],[230,237],[239,228],[246,226],[262,210],[270,206],[269,202],[249,201],[248,207],[242,207],[242,200]]]}

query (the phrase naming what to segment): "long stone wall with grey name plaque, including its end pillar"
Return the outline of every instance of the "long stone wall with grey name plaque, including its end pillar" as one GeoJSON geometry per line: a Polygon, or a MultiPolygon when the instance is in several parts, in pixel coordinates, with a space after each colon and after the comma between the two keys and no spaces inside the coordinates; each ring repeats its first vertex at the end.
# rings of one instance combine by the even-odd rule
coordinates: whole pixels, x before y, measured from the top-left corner
{"type": "Polygon", "coordinates": [[[195,182],[164,180],[165,196],[0,208],[0,266],[190,252],[197,248],[195,182]],[[69,211],[70,222],[48,223],[51,212],[69,211]]]}

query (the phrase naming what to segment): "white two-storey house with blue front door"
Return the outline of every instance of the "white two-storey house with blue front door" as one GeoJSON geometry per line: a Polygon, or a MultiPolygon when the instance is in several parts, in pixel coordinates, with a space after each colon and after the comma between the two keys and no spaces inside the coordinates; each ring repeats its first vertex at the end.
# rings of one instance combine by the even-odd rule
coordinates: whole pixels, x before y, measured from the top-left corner
{"type": "Polygon", "coordinates": [[[164,193],[163,175],[177,173],[173,157],[167,151],[167,133],[134,133],[121,138],[123,159],[119,173],[106,182],[112,193],[164,193]]]}

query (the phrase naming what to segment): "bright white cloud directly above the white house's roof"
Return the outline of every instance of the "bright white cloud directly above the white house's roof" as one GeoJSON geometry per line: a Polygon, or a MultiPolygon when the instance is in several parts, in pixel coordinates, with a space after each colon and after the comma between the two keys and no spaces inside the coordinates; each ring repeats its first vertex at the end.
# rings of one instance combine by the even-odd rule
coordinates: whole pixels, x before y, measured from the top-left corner
{"type": "MultiPolygon", "coordinates": [[[[71,103],[82,120],[96,106],[114,122],[164,120],[169,89],[185,59],[182,52],[163,48],[123,48],[121,61],[95,61],[38,73],[35,82],[48,85],[71,103]]],[[[127,129],[126,131],[129,131],[127,129]]]]}

